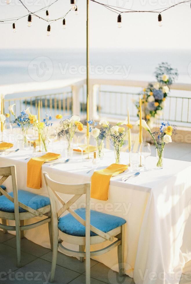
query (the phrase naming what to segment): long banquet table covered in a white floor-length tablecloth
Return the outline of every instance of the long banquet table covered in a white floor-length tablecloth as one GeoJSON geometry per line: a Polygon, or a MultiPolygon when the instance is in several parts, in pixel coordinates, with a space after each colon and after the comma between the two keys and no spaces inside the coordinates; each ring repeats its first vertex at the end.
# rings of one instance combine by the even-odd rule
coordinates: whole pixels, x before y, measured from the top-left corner
{"type": "MultiPolygon", "coordinates": [[[[61,152],[59,146],[55,148],[57,151],[54,152],[61,152]]],[[[31,155],[30,150],[1,155],[0,166],[16,165],[18,189],[47,196],[43,176],[40,190],[26,186],[29,160],[25,158],[31,155]]],[[[91,161],[80,159],[81,155],[74,153],[72,160],[66,164],[52,167],[44,164],[42,172],[47,172],[50,178],[62,183],[88,182],[93,173],[91,171],[87,174],[91,169],[88,168],[91,167],[91,161]]],[[[127,164],[128,161],[128,153],[121,153],[121,163],[127,164]]],[[[114,163],[114,152],[105,150],[99,167],[106,167],[111,163],[114,163]]],[[[141,172],[139,176],[126,182],[121,181],[121,176],[112,177],[108,201],[91,199],[91,207],[127,221],[125,273],[133,277],[136,284],[178,284],[185,263],[191,260],[191,163],[164,159],[164,168],[157,170],[156,157],[150,156],[147,165],[149,171],[141,172]]],[[[10,177],[4,185],[7,192],[12,191],[10,177]]],[[[62,197],[64,201],[68,200],[68,196],[62,197]]],[[[82,196],[72,209],[84,205],[85,199],[82,196]]],[[[32,221],[34,220],[26,221],[26,224],[32,221]]],[[[24,234],[34,243],[50,248],[47,224],[24,234]]],[[[70,247],[69,244],[65,246],[70,247]]],[[[93,250],[99,248],[101,245],[92,247],[93,250]]],[[[117,248],[94,259],[118,271],[117,248]]]]}

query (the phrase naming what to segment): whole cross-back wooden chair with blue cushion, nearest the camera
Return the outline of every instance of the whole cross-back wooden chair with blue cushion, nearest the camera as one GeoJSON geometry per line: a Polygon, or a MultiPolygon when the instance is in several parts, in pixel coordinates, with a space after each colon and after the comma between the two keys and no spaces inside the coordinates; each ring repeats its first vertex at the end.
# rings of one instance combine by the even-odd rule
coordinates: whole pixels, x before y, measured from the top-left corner
{"type": "Polygon", "coordinates": [[[43,174],[50,197],[53,228],[53,254],[50,282],[54,281],[58,246],[63,253],[77,256],[80,258],[80,261],[83,261],[86,256],[86,284],[90,284],[90,257],[106,253],[117,246],[119,273],[124,275],[124,224],[126,221],[117,216],[90,210],[90,183],[77,185],[63,184],[50,179],[47,173],[43,174]],[[58,193],[73,196],[65,203],[58,193]],[[86,194],[86,208],[77,209],[75,211],[72,210],[70,206],[83,194],[86,194]],[[63,205],[58,212],[56,199],[63,205]],[[69,214],[60,217],[66,210],[68,210],[69,214]],[[114,237],[116,237],[117,240],[113,242],[114,237]],[[112,243],[107,247],[97,251],[90,251],[90,245],[103,243],[108,240],[112,243]],[[79,245],[79,251],[67,249],[62,245],[63,241],[79,245]]]}

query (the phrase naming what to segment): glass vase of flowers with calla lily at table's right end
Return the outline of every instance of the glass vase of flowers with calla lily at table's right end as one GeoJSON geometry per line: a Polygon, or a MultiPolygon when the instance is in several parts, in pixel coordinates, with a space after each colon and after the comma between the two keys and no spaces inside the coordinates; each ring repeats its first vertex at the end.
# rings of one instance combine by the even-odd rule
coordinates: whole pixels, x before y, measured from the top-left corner
{"type": "MultiPolygon", "coordinates": [[[[139,125],[139,120],[136,125],[139,125]]],[[[146,121],[142,119],[142,127],[150,133],[152,139],[154,141],[154,145],[156,146],[156,155],[157,155],[157,168],[163,168],[163,154],[165,144],[172,142],[172,136],[177,134],[177,126],[170,125],[169,122],[162,122],[160,129],[155,132],[151,132],[149,126],[146,121]]]]}

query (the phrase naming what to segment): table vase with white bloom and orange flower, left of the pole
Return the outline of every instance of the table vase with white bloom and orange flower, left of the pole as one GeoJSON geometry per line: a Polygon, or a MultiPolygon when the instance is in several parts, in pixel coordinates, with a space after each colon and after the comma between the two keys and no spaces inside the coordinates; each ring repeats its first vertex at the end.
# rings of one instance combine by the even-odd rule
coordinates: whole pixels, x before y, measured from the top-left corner
{"type": "Polygon", "coordinates": [[[83,124],[81,123],[78,115],[72,115],[70,118],[60,121],[59,128],[57,128],[59,138],[65,138],[67,141],[67,151],[69,155],[73,151],[72,141],[77,130],[83,130],[83,124]]]}

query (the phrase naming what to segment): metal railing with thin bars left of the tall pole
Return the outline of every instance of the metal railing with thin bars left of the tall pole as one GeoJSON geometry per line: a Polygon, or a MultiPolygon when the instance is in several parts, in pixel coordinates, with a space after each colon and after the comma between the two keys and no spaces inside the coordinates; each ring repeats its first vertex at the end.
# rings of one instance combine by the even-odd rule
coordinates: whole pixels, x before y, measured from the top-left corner
{"type": "MultiPolygon", "coordinates": [[[[30,112],[32,114],[37,114],[39,100],[42,118],[44,118],[43,116],[45,113],[49,112],[53,117],[59,113],[64,113],[66,116],[72,114],[72,91],[41,95],[37,97],[4,99],[4,110],[5,112],[8,112],[8,107],[15,103],[14,112],[16,116],[19,116],[20,112],[28,107],[30,107],[30,112]]],[[[10,116],[10,121],[11,120],[12,116],[10,116]]]]}

